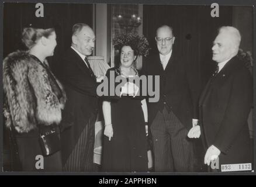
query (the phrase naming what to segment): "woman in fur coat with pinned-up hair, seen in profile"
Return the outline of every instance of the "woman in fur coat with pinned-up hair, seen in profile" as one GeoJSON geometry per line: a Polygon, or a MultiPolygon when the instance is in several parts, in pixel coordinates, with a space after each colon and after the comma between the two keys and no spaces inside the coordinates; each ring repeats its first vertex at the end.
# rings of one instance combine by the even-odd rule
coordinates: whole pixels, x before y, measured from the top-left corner
{"type": "Polygon", "coordinates": [[[28,51],[15,51],[4,59],[6,126],[13,127],[22,171],[61,171],[60,151],[43,156],[40,133],[58,130],[65,92],[52,74],[46,57],[53,56],[54,29],[23,29],[28,51]]]}

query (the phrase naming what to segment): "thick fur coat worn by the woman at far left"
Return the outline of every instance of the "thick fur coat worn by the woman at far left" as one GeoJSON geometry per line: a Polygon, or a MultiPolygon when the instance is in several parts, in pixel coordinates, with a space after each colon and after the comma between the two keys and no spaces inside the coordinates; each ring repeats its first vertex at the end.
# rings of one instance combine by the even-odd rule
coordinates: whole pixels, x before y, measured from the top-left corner
{"type": "Polygon", "coordinates": [[[62,93],[59,99],[46,68],[39,61],[27,51],[9,54],[3,63],[5,103],[8,103],[4,110],[6,126],[12,123],[19,133],[26,133],[36,129],[37,124],[60,123],[66,98],[60,82],[57,79],[56,82],[62,93]]]}

